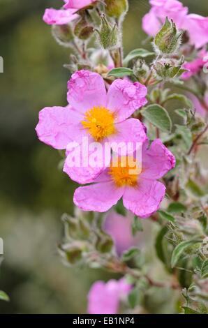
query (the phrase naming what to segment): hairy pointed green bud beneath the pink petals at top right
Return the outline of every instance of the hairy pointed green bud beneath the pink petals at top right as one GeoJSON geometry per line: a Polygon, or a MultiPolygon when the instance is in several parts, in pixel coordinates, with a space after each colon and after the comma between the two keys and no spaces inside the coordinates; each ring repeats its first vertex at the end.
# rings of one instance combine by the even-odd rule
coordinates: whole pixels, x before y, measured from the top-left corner
{"type": "Polygon", "coordinates": [[[166,17],[165,24],[154,38],[156,51],[161,54],[173,54],[181,44],[184,31],[178,31],[176,25],[166,17]]]}

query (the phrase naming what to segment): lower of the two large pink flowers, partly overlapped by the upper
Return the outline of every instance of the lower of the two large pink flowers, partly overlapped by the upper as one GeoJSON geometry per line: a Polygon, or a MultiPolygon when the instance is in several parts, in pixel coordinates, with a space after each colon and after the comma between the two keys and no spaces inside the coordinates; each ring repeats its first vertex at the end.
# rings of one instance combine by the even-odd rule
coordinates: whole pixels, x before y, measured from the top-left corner
{"type": "Polygon", "coordinates": [[[129,161],[123,159],[121,157],[119,165],[107,167],[94,184],[76,189],[77,207],[105,212],[123,197],[124,207],[140,218],[148,218],[158,210],[165,196],[165,186],[157,179],[174,167],[172,153],[156,139],[149,149],[148,142],[143,144],[142,165],[135,163],[133,167],[132,162],[129,165],[129,161]]]}

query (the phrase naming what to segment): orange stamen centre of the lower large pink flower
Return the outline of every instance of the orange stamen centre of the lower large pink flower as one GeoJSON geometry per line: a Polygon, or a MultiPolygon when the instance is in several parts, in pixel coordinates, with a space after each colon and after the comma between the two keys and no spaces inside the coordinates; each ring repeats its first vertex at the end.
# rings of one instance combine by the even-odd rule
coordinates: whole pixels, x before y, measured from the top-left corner
{"type": "Polygon", "coordinates": [[[140,173],[141,167],[133,156],[122,156],[115,163],[112,161],[109,170],[112,180],[118,187],[137,186],[140,173]]]}

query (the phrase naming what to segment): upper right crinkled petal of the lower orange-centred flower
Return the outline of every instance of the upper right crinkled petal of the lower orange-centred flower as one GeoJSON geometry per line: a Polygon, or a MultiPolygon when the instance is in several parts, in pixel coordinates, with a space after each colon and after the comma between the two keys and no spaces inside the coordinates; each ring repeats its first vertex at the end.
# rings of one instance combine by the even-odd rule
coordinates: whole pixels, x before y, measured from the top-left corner
{"type": "Polygon", "coordinates": [[[142,149],[142,174],[149,180],[161,179],[175,166],[175,158],[160,139],[154,140],[149,149],[142,149]]]}

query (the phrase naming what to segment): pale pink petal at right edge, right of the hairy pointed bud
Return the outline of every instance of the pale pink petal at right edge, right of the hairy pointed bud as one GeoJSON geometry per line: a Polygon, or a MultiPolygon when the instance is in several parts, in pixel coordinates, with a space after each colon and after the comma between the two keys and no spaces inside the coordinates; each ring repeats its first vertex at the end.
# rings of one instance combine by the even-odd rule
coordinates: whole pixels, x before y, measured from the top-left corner
{"type": "Polygon", "coordinates": [[[196,48],[208,43],[208,17],[195,14],[188,15],[183,28],[189,32],[190,43],[196,48]]]}

